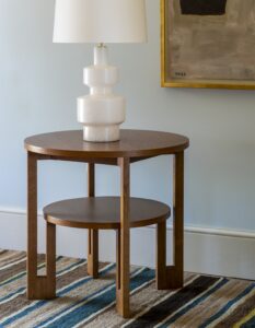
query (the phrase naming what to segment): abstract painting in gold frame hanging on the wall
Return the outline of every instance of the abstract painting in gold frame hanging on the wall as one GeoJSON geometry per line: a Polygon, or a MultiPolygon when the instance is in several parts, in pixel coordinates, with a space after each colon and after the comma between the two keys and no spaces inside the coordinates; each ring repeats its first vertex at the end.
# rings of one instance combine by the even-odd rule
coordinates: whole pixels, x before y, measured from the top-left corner
{"type": "Polygon", "coordinates": [[[255,0],[161,0],[162,86],[255,90],[255,0]]]}

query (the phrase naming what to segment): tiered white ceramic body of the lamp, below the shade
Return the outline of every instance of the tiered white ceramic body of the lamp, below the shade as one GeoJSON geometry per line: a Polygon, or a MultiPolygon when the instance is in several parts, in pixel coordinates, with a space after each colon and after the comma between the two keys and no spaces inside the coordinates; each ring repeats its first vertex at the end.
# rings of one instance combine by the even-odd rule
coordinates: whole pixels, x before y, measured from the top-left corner
{"type": "Polygon", "coordinates": [[[126,102],[113,93],[118,69],[107,63],[107,48],[94,48],[94,65],[84,69],[84,84],[90,94],[78,98],[78,121],[83,125],[83,140],[111,142],[119,140],[119,126],[125,121],[126,102]]]}

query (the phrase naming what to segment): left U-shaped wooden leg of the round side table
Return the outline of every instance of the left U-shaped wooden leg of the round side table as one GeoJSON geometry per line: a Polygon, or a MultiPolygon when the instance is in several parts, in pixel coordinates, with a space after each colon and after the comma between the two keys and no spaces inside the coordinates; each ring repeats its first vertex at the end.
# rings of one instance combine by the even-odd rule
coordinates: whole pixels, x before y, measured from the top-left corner
{"type": "Polygon", "coordinates": [[[55,227],[47,230],[47,276],[37,276],[37,156],[27,153],[27,297],[55,297],[55,227]],[[49,241],[50,239],[50,241],[49,241]]]}

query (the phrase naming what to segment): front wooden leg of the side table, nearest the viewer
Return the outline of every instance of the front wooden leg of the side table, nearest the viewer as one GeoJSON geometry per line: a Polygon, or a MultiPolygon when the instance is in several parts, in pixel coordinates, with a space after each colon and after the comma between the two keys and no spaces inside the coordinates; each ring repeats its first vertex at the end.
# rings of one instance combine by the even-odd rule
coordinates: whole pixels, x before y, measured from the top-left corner
{"type": "Polygon", "coordinates": [[[117,278],[116,278],[116,302],[117,311],[128,318],[129,311],[129,159],[119,159],[121,172],[120,185],[120,230],[117,233],[117,278]]]}

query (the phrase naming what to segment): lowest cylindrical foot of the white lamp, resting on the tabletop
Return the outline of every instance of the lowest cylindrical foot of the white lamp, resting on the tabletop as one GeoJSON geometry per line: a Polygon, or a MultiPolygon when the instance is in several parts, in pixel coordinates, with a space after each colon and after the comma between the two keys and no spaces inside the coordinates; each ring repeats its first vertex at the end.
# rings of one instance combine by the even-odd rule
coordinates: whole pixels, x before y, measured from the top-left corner
{"type": "Polygon", "coordinates": [[[83,127],[83,140],[90,142],[118,141],[119,126],[83,127]]]}

